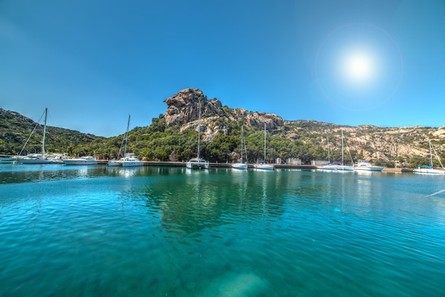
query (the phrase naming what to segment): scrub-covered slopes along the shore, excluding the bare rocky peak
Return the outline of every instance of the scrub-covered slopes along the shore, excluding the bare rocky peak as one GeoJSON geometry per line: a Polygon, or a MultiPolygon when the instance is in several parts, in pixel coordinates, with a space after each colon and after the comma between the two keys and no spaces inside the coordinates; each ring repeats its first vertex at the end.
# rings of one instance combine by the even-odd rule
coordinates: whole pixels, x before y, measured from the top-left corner
{"type": "MultiPolygon", "coordinates": [[[[31,119],[0,109],[0,154],[16,155],[31,131],[36,126],[31,119]]],[[[202,131],[200,155],[211,162],[232,162],[239,158],[241,124],[219,117],[208,123],[207,131],[219,131],[209,136],[202,131]],[[223,127],[224,129],[220,129],[223,127]],[[210,137],[210,138],[207,138],[210,137]],[[207,141],[206,141],[207,139],[207,141]],[[211,140],[210,140],[211,139],[211,140]]],[[[247,159],[255,163],[264,158],[264,132],[260,127],[244,126],[247,159]]],[[[418,154],[407,154],[407,148],[427,151],[426,139],[430,137],[428,128],[417,130],[383,129],[375,126],[338,126],[317,121],[286,121],[274,131],[267,132],[267,161],[282,158],[300,158],[302,163],[313,160],[328,160],[327,139],[331,148],[331,161],[341,160],[341,129],[345,135],[345,161],[350,162],[349,153],[356,162],[370,156],[375,165],[394,167],[419,164],[428,165],[429,158],[418,154]],[[390,132],[388,132],[390,131],[390,132]],[[373,155],[373,156],[374,156],[373,155]]],[[[26,153],[41,151],[43,126],[39,125],[26,146],[26,153]]],[[[45,148],[52,153],[66,153],[68,156],[87,156],[99,154],[104,159],[117,158],[124,134],[110,138],[82,134],[78,131],[47,127],[45,148]]],[[[433,139],[439,157],[445,160],[444,139],[433,139]],[[439,148],[439,149],[438,149],[439,148]]],[[[136,127],[129,131],[127,151],[146,161],[188,161],[196,156],[198,131],[180,126],[167,126],[163,114],[152,119],[151,125],[136,127]]],[[[434,165],[439,162],[434,158],[434,165]]]]}

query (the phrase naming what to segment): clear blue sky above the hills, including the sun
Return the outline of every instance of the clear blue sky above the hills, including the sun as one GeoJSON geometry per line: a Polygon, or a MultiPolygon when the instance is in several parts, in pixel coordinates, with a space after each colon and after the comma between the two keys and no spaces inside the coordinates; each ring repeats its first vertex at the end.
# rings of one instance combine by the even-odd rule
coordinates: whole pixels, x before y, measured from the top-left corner
{"type": "Polygon", "coordinates": [[[0,0],[0,107],[99,136],[186,87],[228,107],[443,126],[445,1],[0,0]]]}

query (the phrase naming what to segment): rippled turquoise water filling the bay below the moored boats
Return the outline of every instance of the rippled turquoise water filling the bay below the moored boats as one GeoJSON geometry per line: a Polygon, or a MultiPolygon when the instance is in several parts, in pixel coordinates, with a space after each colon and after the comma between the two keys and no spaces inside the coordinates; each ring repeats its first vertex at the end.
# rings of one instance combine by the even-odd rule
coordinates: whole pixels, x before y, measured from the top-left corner
{"type": "Polygon", "coordinates": [[[0,296],[444,296],[444,176],[0,166],[0,296]]]}

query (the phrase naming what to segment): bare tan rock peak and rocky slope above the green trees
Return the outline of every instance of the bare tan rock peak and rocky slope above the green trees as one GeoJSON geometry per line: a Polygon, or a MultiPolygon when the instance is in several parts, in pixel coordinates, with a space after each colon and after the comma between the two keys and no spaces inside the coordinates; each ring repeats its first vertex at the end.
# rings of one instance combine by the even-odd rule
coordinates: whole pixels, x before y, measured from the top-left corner
{"type": "MultiPolygon", "coordinates": [[[[220,100],[207,99],[198,89],[185,89],[164,100],[168,105],[165,121],[168,126],[178,125],[181,130],[198,130],[201,107],[201,135],[210,142],[217,134],[228,134],[230,122],[241,121],[253,129],[266,129],[286,139],[303,141],[328,150],[327,139],[333,151],[341,149],[341,130],[351,151],[368,160],[392,161],[397,157],[408,159],[414,155],[429,156],[428,141],[434,141],[436,151],[445,152],[445,126],[382,128],[372,125],[338,126],[319,121],[284,121],[276,114],[249,112],[246,109],[223,106],[220,100]]],[[[403,166],[404,164],[400,164],[403,166]]]]}

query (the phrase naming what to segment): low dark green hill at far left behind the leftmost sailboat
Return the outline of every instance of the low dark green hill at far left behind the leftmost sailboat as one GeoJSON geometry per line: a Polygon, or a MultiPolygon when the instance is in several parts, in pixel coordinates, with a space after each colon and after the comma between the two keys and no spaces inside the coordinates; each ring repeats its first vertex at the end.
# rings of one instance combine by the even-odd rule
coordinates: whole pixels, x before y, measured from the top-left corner
{"type": "MultiPolygon", "coordinates": [[[[0,109],[0,119],[0,154],[16,155],[23,148],[37,123],[17,112],[4,109],[0,109]]],[[[33,136],[29,139],[28,144],[26,144],[22,155],[40,152],[42,136],[43,124],[39,124],[33,136]]],[[[45,150],[48,153],[68,153],[76,146],[87,144],[97,138],[97,136],[92,134],[83,134],[79,131],[47,126],[45,150]]]]}

